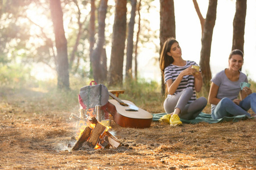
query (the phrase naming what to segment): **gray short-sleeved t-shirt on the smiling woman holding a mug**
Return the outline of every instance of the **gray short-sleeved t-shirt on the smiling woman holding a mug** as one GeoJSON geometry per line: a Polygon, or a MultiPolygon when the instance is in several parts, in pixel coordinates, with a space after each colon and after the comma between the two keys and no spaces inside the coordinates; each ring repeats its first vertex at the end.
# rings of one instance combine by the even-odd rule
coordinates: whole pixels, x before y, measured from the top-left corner
{"type": "MultiPolygon", "coordinates": [[[[228,97],[230,100],[234,100],[238,97],[241,87],[241,82],[248,82],[247,76],[240,71],[239,79],[236,82],[232,82],[225,74],[225,70],[217,73],[211,81],[218,86],[217,98],[223,99],[228,97]]],[[[212,104],[212,111],[216,105],[212,104]]]]}

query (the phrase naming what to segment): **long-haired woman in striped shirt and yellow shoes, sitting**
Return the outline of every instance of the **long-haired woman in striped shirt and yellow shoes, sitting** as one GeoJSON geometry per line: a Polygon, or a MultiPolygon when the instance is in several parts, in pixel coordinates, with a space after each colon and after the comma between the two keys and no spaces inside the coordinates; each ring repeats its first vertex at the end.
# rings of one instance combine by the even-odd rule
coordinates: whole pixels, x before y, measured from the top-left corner
{"type": "Polygon", "coordinates": [[[195,119],[207,105],[205,97],[196,99],[196,92],[203,86],[200,71],[192,66],[198,66],[194,61],[185,61],[181,57],[179,42],[169,38],[164,42],[160,54],[160,69],[166,83],[167,98],[164,100],[164,110],[171,126],[181,125],[184,120],[195,119]],[[169,114],[169,115],[168,115],[169,114]]]}

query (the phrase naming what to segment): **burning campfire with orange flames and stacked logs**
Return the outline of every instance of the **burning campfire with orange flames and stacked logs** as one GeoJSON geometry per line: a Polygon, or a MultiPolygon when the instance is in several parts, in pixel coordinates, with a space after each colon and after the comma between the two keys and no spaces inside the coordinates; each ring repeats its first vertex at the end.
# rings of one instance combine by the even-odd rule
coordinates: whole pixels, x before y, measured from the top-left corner
{"type": "Polygon", "coordinates": [[[94,111],[93,109],[80,109],[80,117],[73,113],[69,117],[77,120],[79,129],[72,151],[79,150],[84,143],[94,149],[120,146],[118,139],[108,131],[111,129],[110,120],[101,120],[98,116],[96,118],[94,111]]]}

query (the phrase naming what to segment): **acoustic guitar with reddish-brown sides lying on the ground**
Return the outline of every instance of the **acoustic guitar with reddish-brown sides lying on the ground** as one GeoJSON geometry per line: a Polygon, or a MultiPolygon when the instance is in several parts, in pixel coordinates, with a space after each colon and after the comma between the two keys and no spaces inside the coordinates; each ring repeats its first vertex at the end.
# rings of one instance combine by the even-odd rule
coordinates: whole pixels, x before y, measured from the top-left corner
{"type": "Polygon", "coordinates": [[[113,98],[107,104],[107,111],[113,116],[114,122],[123,128],[149,128],[152,114],[138,108],[128,100],[120,100],[109,92],[113,98]]]}

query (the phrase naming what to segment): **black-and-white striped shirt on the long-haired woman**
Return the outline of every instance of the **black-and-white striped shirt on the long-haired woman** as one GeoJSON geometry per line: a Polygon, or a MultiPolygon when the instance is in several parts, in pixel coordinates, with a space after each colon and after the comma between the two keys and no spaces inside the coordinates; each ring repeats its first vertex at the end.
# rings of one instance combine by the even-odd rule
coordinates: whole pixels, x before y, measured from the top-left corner
{"type": "MultiPolygon", "coordinates": [[[[177,76],[181,73],[181,71],[187,69],[191,65],[197,65],[197,63],[194,61],[187,61],[187,64],[185,66],[175,66],[175,65],[170,64],[169,66],[166,67],[166,69],[164,69],[164,82],[166,83],[167,80],[169,80],[169,79],[172,79],[172,82],[174,82],[177,79],[177,76]]],[[[183,76],[174,95],[183,91],[185,88],[193,89],[193,96],[188,101],[188,103],[192,103],[192,101],[196,100],[195,80],[194,80],[193,75],[183,76]]],[[[168,95],[168,96],[171,96],[171,95],[168,95]]]]}

